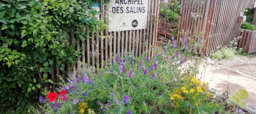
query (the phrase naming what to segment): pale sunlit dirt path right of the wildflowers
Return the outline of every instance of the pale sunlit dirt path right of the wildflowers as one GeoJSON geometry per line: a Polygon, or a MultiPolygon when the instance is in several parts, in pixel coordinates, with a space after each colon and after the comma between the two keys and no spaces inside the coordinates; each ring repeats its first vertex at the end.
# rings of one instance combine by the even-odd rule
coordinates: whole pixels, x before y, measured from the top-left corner
{"type": "MultiPolygon", "coordinates": [[[[205,62],[201,66],[205,65],[205,62]]],[[[204,81],[208,81],[210,88],[217,91],[227,91],[229,85],[231,95],[235,91],[245,89],[249,93],[249,98],[243,100],[246,106],[254,106],[256,108],[256,78],[245,76],[227,68],[222,68],[212,63],[207,63],[206,75],[204,81]]],[[[253,68],[255,68],[254,66],[253,68]]],[[[200,68],[202,70],[203,67],[200,68]]]]}

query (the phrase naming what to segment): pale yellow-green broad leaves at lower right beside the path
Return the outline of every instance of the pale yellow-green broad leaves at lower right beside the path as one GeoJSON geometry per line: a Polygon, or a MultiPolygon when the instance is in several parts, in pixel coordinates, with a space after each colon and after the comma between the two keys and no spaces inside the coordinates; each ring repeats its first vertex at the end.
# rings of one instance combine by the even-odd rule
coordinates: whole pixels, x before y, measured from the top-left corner
{"type": "Polygon", "coordinates": [[[228,97],[232,102],[238,103],[241,108],[245,109],[244,103],[240,100],[247,99],[249,97],[249,94],[245,89],[242,89],[234,92],[234,95],[228,95],[228,97]]]}

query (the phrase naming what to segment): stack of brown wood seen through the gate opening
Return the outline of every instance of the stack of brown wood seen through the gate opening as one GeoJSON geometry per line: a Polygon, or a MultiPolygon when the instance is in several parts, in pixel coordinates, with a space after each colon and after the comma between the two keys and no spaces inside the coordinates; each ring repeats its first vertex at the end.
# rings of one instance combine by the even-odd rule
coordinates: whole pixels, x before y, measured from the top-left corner
{"type": "Polygon", "coordinates": [[[172,36],[170,33],[166,33],[164,31],[157,31],[157,43],[161,43],[164,45],[167,45],[168,41],[172,39],[172,36]]]}

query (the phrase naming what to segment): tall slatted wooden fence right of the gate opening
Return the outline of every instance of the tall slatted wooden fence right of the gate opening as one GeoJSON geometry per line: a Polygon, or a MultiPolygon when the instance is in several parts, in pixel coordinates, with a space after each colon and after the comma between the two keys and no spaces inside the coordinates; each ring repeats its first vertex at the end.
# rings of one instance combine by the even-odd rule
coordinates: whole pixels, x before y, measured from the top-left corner
{"type": "Polygon", "coordinates": [[[203,32],[201,37],[207,38],[203,52],[215,52],[237,37],[241,26],[239,16],[252,4],[254,0],[181,0],[177,41],[203,32]],[[190,34],[184,35],[182,31],[187,30],[190,34]]]}

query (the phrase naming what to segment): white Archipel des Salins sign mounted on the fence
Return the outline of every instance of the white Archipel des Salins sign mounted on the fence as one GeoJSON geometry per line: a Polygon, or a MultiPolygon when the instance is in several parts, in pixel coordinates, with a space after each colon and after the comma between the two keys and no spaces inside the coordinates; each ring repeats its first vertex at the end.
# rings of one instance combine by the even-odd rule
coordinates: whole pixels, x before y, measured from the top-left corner
{"type": "Polygon", "coordinates": [[[147,28],[148,0],[110,0],[109,32],[147,28]]]}

